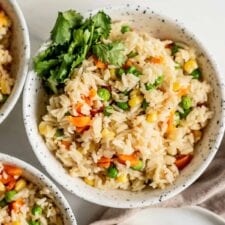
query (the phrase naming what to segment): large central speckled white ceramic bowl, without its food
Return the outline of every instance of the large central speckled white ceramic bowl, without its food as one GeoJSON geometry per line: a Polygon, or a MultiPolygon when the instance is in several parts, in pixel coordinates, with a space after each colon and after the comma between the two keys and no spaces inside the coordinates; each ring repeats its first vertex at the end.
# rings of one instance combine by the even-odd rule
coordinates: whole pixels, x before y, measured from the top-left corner
{"type": "MultiPolygon", "coordinates": [[[[47,149],[44,140],[38,133],[38,123],[45,110],[47,99],[41,81],[33,70],[29,72],[24,90],[24,123],[28,138],[39,161],[63,187],[81,198],[100,205],[117,208],[144,207],[160,203],[186,189],[212,161],[224,133],[225,86],[223,77],[217,71],[216,64],[209,53],[201,42],[186,31],[177,20],[156,14],[151,8],[133,4],[119,8],[108,7],[104,11],[114,20],[130,20],[134,26],[144,29],[155,37],[182,41],[196,48],[205,79],[213,88],[209,102],[214,116],[205,129],[202,140],[196,146],[195,156],[190,165],[182,170],[176,182],[165,190],[144,190],[136,193],[121,190],[99,190],[86,185],[81,179],[70,177],[60,162],[47,149]]],[[[97,10],[92,13],[96,12],[97,10]]]]}

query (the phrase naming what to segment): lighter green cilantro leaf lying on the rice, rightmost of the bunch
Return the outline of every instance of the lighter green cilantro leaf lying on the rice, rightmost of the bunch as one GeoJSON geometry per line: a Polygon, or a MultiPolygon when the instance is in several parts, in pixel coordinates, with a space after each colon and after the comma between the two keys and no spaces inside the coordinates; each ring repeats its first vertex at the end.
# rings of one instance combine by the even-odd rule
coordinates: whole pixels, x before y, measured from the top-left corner
{"type": "Polygon", "coordinates": [[[101,61],[115,66],[122,66],[126,59],[124,45],[118,41],[110,44],[96,44],[92,50],[101,61]]]}

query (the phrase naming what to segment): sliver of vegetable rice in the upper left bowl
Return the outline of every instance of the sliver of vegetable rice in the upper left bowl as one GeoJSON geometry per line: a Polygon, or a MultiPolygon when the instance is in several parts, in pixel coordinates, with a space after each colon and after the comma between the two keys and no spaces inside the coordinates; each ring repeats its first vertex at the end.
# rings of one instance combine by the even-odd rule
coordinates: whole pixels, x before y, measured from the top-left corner
{"type": "Polygon", "coordinates": [[[3,10],[0,9],[0,105],[2,105],[10,93],[14,79],[10,75],[12,56],[10,53],[11,21],[3,10]]]}

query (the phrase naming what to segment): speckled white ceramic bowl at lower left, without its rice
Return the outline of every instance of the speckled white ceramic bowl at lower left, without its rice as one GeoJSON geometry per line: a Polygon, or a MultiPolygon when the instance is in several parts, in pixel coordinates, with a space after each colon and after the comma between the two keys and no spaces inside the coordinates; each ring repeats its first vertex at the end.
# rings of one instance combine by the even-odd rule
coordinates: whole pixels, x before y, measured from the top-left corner
{"type": "Polygon", "coordinates": [[[56,187],[56,185],[47,178],[39,170],[35,169],[33,166],[28,163],[17,159],[15,157],[0,153],[0,162],[12,164],[23,169],[23,176],[41,187],[47,187],[54,196],[56,205],[59,207],[62,215],[64,225],[77,225],[76,219],[73,215],[72,209],[69,206],[69,203],[61,193],[61,191],[56,187]]]}

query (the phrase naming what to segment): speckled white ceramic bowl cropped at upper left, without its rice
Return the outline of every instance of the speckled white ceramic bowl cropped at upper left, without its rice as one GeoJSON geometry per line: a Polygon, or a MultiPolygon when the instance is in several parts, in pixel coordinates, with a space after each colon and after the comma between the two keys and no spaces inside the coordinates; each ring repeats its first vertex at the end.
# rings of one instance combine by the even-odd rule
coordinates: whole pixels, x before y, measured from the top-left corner
{"type": "Polygon", "coordinates": [[[17,1],[4,0],[0,2],[0,6],[12,21],[11,74],[15,79],[12,93],[0,108],[0,123],[2,123],[14,108],[22,92],[30,58],[30,40],[27,25],[17,1]]]}

